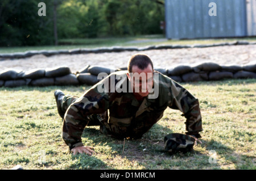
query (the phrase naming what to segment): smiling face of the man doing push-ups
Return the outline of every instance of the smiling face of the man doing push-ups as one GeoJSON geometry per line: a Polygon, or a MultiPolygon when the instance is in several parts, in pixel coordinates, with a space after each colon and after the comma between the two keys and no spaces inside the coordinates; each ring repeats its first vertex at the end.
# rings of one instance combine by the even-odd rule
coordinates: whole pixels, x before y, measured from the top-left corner
{"type": "Polygon", "coordinates": [[[142,70],[134,65],[131,70],[132,74],[128,77],[133,83],[133,93],[141,97],[147,96],[154,85],[152,66],[148,64],[147,68],[142,70]]]}

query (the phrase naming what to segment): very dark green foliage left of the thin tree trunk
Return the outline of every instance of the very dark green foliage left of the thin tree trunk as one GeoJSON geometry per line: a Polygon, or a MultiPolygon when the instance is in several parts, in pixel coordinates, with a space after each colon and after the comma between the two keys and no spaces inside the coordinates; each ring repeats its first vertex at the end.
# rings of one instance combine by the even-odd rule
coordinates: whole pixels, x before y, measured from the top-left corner
{"type": "Polygon", "coordinates": [[[33,0],[0,1],[0,46],[51,44],[52,22],[47,16],[38,16],[38,9],[33,0]]]}

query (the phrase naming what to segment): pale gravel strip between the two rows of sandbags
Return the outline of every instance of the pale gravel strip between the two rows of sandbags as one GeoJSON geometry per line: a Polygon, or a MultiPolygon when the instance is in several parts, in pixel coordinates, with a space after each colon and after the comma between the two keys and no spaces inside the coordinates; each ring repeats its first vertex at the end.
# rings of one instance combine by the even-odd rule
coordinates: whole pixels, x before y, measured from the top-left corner
{"type": "Polygon", "coordinates": [[[119,53],[88,53],[72,55],[56,55],[51,57],[42,54],[16,60],[0,61],[0,71],[8,68],[31,70],[35,68],[55,68],[68,66],[73,73],[86,65],[97,65],[108,68],[123,68],[135,53],[147,54],[155,68],[170,68],[178,64],[199,64],[200,62],[214,62],[219,65],[256,64],[256,45],[232,45],[208,48],[181,48],[146,50],[119,53]]]}

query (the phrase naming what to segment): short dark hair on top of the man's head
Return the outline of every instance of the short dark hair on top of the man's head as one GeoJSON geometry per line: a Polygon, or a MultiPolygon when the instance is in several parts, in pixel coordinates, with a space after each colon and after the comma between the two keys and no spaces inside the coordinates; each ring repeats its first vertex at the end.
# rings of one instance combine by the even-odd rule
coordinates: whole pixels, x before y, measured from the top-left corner
{"type": "Polygon", "coordinates": [[[152,66],[152,70],[154,70],[150,57],[146,56],[146,54],[134,54],[128,62],[128,71],[131,73],[131,69],[134,65],[138,66],[139,69],[146,69],[148,64],[150,64],[152,66]]]}

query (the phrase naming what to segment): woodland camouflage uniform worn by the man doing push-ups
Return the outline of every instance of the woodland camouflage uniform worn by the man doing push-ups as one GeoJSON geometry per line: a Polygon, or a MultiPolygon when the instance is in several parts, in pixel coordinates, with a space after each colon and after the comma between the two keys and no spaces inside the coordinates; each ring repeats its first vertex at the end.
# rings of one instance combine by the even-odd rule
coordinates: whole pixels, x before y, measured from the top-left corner
{"type": "MultiPolygon", "coordinates": [[[[80,98],[65,96],[61,104],[63,110],[67,110],[64,116],[63,139],[69,149],[83,145],[81,134],[86,125],[100,125],[101,133],[115,138],[141,138],[162,118],[167,107],[183,112],[187,119],[186,134],[199,134],[203,131],[198,99],[163,74],[159,73],[157,81],[154,79],[154,85],[159,86],[159,96],[156,99],[148,99],[147,96],[139,102],[132,92],[98,91],[97,86],[102,86],[106,81],[110,83],[111,77],[117,74],[126,76],[126,73],[127,71],[118,71],[110,74],[80,98]]],[[[125,82],[124,79],[114,80],[115,85],[119,81],[125,82]]],[[[126,82],[129,83],[127,80],[126,82]]]]}

